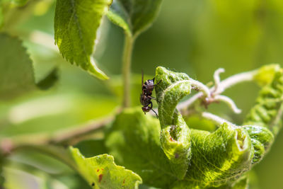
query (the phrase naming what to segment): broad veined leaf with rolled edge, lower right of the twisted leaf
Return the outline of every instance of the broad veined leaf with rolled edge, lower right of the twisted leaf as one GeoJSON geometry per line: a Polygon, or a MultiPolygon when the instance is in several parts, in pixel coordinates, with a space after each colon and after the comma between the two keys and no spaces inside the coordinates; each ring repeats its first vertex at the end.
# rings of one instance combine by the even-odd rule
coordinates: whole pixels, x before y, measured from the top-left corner
{"type": "Polygon", "coordinates": [[[233,183],[250,169],[253,149],[248,132],[224,123],[215,132],[192,130],[192,158],[183,181],[199,188],[233,183]]]}

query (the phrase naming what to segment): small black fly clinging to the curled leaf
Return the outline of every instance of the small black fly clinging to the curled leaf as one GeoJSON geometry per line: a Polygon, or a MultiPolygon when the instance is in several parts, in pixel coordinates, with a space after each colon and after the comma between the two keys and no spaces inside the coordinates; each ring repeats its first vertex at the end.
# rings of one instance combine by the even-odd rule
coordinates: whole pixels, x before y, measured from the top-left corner
{"type": "MultiPolygon", "coordinates": [[[[158,82],[158,84],[160,83],[160,81],[158,82]]],[[[158,85],[156,84],[156,85],[158,85]]],[[[143,105],[143,107],[141,107],[141,110],[144,111],[144,114],[148,113],[150,110],[153,110],[152,109],[152,102],[151,102],[151,99],[154,99],[156,100],[156,98],[152,97],[151,94],[152,94],[152,91],[154,91],[154,86],[156,86],[154,84],[154,79],[149,79],[149,80],[146,80],[144,82],[144,72],[141,73],[141,90],[142,90],[142,93],[141,93],[141,97],[140,97],[140,101],[141,101],[141,105],[143,105]],[[149,106],[150,105],[150,106],[149,106]]],[[[158,118],[158,115],[157,113],[154,111],[156,117],[158,118]]]]}

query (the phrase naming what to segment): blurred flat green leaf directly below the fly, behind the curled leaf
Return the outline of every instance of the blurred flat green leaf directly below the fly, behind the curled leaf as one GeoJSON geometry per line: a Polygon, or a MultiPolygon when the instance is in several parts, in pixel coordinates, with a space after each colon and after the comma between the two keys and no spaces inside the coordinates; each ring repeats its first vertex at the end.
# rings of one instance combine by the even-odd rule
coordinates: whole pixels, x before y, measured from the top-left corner
{"type": "Polygon", "coordinates": [[[117,115],[106,137],[106,147],[115,160],[138,173],[143,183],[170,188],[177,177],[161,149],[160,125],[156,118],[144,115],[141,108],[125,109],[117,115]]]}

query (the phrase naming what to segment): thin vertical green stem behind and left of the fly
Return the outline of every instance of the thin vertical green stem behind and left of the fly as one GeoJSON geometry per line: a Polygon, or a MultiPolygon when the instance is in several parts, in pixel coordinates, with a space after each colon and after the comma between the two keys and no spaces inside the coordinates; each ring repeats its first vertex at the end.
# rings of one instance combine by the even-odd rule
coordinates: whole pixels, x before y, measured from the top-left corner
{"type": "Polygon", "coordinates": [[[122,107],[127,108],[130,105],[130,74],[132,50],[134,45],[134,38],[130,35],[125,35],[124,52],[122,57],[122,75],[123,75],[123,103],[122,107]]]}

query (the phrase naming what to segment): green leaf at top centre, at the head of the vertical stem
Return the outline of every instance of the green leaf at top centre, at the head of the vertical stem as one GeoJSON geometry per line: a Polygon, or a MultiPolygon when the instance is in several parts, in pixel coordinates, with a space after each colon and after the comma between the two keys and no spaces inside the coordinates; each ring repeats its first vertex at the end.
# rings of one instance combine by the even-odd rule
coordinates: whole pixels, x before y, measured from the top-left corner
{"type": "Polygon", "coordinates": [[[108,18],[127,35],[137,36],[154,22],[161,3],[162,0],[114,0],[108,18]]]}

